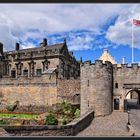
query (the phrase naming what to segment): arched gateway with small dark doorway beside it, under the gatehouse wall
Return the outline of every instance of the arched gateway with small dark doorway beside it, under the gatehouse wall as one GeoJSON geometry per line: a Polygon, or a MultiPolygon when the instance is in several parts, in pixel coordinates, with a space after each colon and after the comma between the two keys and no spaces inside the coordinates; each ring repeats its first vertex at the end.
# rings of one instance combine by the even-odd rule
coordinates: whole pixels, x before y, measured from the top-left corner
{"type": "MultiPolygon", "coordinates": [[[[114,95],[113,110],[128,111],[140,109],[140,84],[122,84],[120,94],[114,95]]],[[[114,91],[116,91],[114,89],[114,91]]]]}

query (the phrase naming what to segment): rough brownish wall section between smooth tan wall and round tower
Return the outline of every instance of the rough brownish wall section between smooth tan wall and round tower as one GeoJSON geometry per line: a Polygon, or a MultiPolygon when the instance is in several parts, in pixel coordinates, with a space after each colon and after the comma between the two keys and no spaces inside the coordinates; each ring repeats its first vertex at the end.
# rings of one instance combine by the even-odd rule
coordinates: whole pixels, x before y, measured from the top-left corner
{"type": "Polygon", "coordinates": [[[80,103],[80,79],[58,79],[58,100],[80,103]]]}

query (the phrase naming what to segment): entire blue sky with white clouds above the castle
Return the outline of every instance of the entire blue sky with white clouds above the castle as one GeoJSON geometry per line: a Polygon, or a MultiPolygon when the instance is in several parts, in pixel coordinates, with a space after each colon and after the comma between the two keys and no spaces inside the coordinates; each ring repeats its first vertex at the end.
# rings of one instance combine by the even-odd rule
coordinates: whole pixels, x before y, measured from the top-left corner
{"type": "MultiPolygon", "coordinates": [[[[99,59],[104,49],[118,63],[131,63],[131,21],[140,4],[0,4],[0,42],[4,50],[39,47],[67,39],[77,60],[99,59]]],[[[140,26],[134,26],[134,62],[140,62],[140,26]]]]}

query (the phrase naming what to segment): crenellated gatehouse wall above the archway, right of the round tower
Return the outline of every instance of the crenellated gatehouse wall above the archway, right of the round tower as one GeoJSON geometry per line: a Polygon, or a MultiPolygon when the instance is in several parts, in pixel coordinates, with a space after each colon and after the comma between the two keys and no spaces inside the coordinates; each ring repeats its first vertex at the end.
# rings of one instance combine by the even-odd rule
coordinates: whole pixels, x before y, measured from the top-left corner
{"type": "Polygon", "coordinates": [[[131,66],[122,64],[121,67],[113,65],[113,78],[114,99],[119,100],[119,110],[123,111],[127,93],[131,90],[140,89],[140,66],[138,64],[132,64],[131,66]]]}

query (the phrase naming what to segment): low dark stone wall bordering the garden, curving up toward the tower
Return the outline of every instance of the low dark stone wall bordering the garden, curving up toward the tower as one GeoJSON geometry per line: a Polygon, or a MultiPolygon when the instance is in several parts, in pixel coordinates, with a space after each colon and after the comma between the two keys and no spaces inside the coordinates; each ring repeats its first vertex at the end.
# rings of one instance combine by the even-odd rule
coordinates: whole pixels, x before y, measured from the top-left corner
{"type": "Polygon", "coordinates": [[[75,136],[90,125],[94,111],[87,111],[80,118],[64,126],[1,126],[10,136],[75,136]]]}

